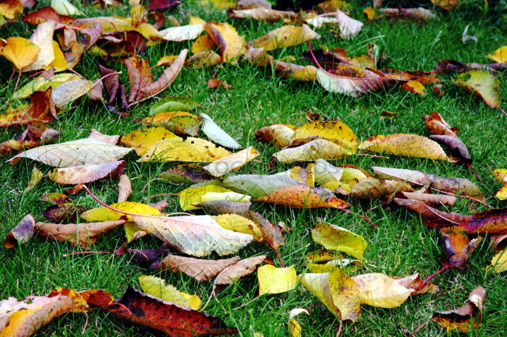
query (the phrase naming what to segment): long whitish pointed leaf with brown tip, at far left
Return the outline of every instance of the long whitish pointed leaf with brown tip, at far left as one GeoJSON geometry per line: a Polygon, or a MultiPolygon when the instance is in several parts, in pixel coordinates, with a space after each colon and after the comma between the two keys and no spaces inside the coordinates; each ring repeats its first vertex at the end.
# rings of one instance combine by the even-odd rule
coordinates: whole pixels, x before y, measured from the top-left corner
{"type": "Polygon", "coordinates": [[[131,150],[92,138],[84,138],[30,149],[12,157],[8,162],[15,164],[25,157],[38,160],[50,166],[60,167],[102,164],[118,160],[131,150]]]}

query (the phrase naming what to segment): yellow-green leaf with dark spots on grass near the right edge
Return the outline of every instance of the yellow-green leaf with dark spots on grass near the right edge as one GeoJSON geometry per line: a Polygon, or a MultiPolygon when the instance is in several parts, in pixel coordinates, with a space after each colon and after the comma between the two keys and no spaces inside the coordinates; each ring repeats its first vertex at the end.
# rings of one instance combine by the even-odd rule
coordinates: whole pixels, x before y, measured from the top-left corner
{"type": "Polygon", "coordinates": [[[457,75],[453,83],[482,98],[487,106],[491,108],[500,107],[498,79],[491,73],[483,70],[467,71],[457,75]]]}

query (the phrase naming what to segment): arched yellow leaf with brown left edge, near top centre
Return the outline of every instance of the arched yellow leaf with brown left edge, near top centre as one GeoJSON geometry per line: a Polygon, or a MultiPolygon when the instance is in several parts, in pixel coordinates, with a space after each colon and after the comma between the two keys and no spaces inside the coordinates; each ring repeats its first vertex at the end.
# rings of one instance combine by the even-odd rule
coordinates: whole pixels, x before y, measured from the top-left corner
{"type": "Polygon", "coordinates": [[[245,53],[245,39],[239,36],[236,28],[227,22],[208,22],[204,29],[216,46],[220,46],[220,54],[224,62],[236,64],[240,55],[245,53]]]}

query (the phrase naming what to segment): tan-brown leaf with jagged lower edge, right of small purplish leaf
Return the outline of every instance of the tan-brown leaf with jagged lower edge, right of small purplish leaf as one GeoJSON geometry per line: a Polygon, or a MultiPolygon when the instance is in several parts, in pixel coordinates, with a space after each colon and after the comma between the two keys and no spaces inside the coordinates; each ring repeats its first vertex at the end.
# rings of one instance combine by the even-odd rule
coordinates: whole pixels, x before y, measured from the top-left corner
{"type": "Polygon", "coordinates": [[[68,241],[75,246],[79,245],[83,249],[89,249],[102,233],[126,222],[126,220],[90,222],[86,224],[38,222],[35,224],[35,228],[39,230],[39,237],[47,237],[57,241],[68,241]]]}

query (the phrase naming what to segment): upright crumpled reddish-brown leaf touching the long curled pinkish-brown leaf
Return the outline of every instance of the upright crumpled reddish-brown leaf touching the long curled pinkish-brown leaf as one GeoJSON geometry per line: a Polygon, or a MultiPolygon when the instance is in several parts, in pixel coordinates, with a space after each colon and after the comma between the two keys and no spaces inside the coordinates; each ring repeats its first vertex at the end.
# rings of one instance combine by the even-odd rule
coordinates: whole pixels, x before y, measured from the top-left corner
{"type": "Polygon", "coordinates": [[[141,89],[153,83],[152,71],[146,65],[146,62],[137,55],[126,59],[125,67],[127,67],[128,81],[130,82],[128,101],[139,101],[145,97],[141,93],[141,89]]]}

